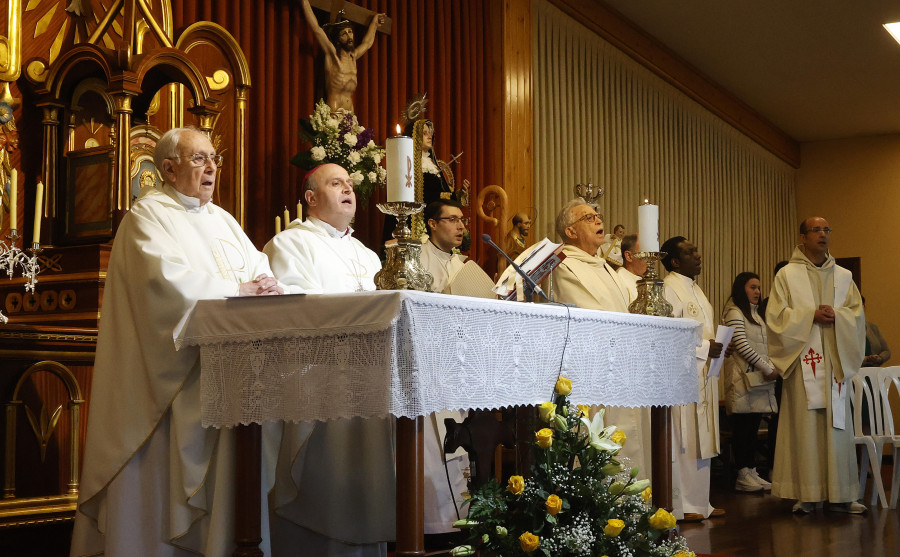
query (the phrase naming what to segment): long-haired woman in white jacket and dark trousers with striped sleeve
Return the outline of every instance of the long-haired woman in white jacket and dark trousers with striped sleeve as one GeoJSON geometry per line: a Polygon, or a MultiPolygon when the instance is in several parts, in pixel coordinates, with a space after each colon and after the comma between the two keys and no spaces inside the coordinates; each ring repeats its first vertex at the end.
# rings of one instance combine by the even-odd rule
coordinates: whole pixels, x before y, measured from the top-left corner
{"type": "Polygon", "coordinates": [[[738,467],[737,491],[771,489],[756,472],[756,440],[762,414],[777,412],[775,366],[768,357],[766,324],[757,310],[759,275],[741,273],[731,286],[722,320],[734,327],[734,352],[725,366],[725,409],[731,416],[732,446],[738,467]]]}

